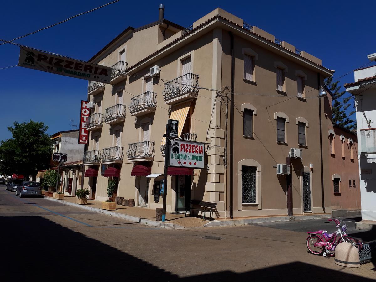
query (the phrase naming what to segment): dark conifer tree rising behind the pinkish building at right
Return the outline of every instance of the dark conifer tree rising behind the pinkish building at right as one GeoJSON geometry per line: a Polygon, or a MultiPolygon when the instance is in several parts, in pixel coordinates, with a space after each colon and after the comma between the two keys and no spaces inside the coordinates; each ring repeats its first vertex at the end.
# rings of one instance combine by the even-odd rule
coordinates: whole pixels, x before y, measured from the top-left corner
{"type": "Polygon", "coordinates": [[[325,85],[333,94],[332,122],[351,130],[356,126],[354,123],[355,120],[350,118],[355,111],[351,111],[349,115],[346,114],[346,110],[351,106],[349,102],[351,97],[344,97],[346,91],[341,91],[341,86],[338,86],[339,82],[339,80],[333,81],[333,77],[325,79],[325,85]]]}

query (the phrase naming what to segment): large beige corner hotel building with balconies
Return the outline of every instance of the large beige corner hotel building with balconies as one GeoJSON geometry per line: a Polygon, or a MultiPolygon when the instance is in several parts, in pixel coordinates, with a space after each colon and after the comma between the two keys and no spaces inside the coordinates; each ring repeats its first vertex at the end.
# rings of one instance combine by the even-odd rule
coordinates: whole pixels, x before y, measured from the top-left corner
{"type": "Polygon", "coordinates": [[[287,177],[276,165],[297,148],[303,158],[291,161],[293,214],[330,213],[317,95],[333,71],[220,8],[187,29],[160,12],[158,21],[128,27],[90,60],[115,69],[112,85],[88,86],[94,103],[83,164],[90,197],[106,200],[114,177],[117,196],[161,207],[162,136],[172,118],[183,139],[208,143],[207,169],[169,171],[167,211],[185,211],[194,199],[216,203],[215,218],[287,215],[287,177]]]}

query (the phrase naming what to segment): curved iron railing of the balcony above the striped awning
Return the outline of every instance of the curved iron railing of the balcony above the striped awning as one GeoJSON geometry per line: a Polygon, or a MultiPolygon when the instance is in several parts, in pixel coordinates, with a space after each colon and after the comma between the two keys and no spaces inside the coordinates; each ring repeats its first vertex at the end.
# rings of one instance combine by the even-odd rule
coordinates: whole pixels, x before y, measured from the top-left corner
{"type": "Polygon", "coordinates": [[[187,73],[166,83],[163,91],[164,99],[177,96],[185,92],[199,93],[199,76],[193,73],[187,73]]]}

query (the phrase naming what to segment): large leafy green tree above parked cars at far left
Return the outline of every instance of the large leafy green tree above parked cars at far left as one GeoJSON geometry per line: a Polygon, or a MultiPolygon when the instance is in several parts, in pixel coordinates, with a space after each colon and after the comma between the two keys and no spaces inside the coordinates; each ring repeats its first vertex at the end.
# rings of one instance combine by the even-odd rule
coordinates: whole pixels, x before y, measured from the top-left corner
{"type": "Polygon", "coordinates": [[[0,171],[35,176],[49,167],[52,146],[47,129],[44,123],[32,120],[8,126],[12,138],[0,141],[0,171]]]}

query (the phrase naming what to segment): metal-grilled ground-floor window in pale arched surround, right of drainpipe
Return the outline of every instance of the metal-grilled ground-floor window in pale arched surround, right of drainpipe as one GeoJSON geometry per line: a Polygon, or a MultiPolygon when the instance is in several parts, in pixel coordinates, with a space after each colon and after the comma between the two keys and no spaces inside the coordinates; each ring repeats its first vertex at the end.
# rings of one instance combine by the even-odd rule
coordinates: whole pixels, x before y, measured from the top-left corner
{"type": "Polygon", "coordinates": [[[241,166],[242,203],[256,203],[256,167],[241,166]]]}

